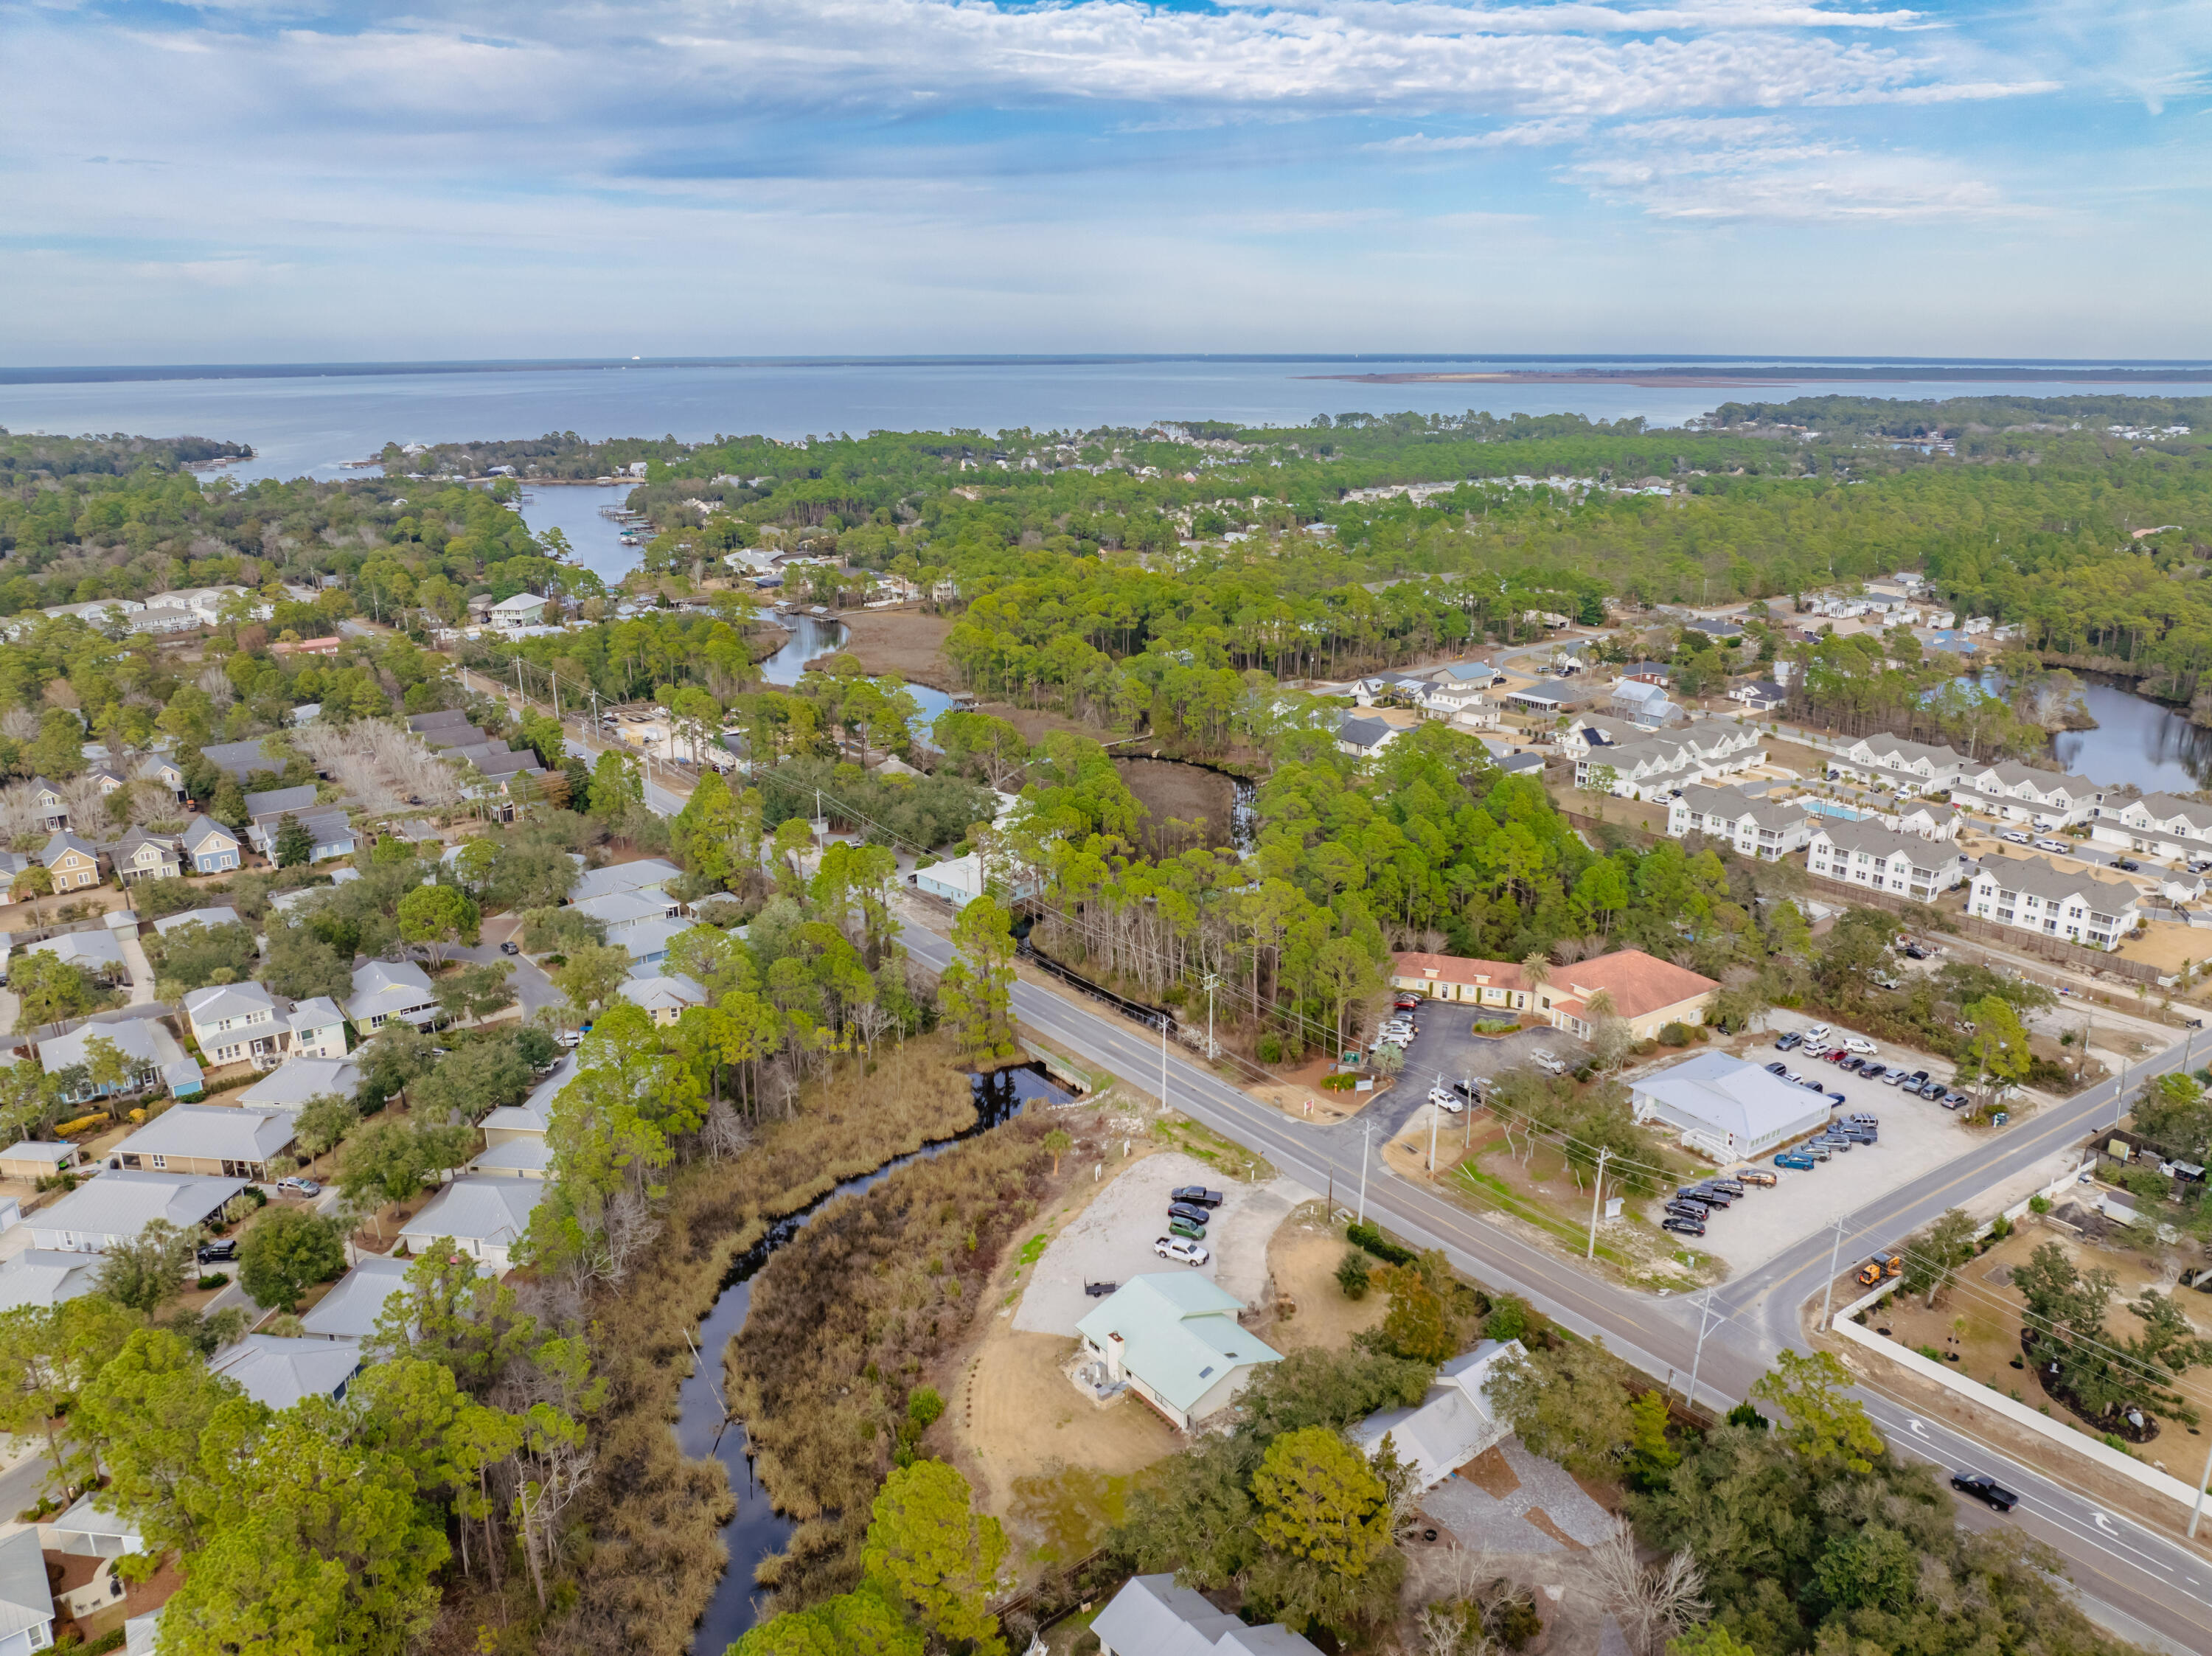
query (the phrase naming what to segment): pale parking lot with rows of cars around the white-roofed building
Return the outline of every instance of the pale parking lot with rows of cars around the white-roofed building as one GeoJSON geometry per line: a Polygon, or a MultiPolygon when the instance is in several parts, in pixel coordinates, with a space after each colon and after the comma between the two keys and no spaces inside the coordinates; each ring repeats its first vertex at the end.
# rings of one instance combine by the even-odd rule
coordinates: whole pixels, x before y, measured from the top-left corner
{"type": "MultiPolygon", "coordinates": [[[[1730,1041],[1730,1050],[1741,1046],[1741,1057],[1750,1063],[1781,1059],[1807,1079],[1818,1077],[1827,1092],[1840,1092],[1847,1099],[1829,1117],[1845,1117],[1854,1110],[1880,1117],[1880,1143],[1838,1150],[1827,1161],[1816,1163],[1812,1172],[1776,1167],[1774,1150],[1754,1161],[1736,1163],[1739,1167],[1765,1167],[1776,1174],[1778,1183],[1772,1189],[1745,1189],[1743,1201],[1708,1220],[1703,1238],[1679,1238],[1686,1249],[1708,1249],[1736,1271],[1756,1269],[1792,1243],[1832,1227],[1838,1216],[1865,1207],[1907,1178],[1916,1178],[1953,1156],[1973,1154],[1975,1145],[1989,1136],[1989,1130],[1969,1132],[1960,1125],[1960,1112],[1944,1110],[1933,1099],[1909,1099],[1882,1081],[1845,1075],[1834,1063],[1807,1059],[1803,1048],[1774,1050],[1774,1041],[1785,1030],[1803,1033],[1816,1021],[1820,1019],[1776,1008],[1767,1015],[1770,1028],[1763,1035],[1752,1037],[1750,1044],[1730,1041]]],[[[1933,1077],[1951,1079],[1949,1063],[1911,1048],[1878,1044],[1876,1057],[1882,1063],[1902,1063],[1907,1070],[1924,1068],[1933,1077]]]]}

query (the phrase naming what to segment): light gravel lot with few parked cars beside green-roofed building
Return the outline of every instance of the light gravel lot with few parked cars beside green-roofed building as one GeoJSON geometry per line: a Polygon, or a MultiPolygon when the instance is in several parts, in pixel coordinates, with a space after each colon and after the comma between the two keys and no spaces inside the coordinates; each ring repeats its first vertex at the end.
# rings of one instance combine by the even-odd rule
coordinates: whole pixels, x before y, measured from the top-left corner
{"type": "Polygon", "coordinates": [[[1197,1269],[1256,1307],[1267,1296],[1267,1238],[1312,1194],[1290,1178],[1223,1185],[1219,1170],[1181,1152],[1146,1156],[1051,1240],[1031,1269],[1013,1327],[1020,1333],[1075,1333],[1075,1324],[1097,1307],[1097,1300],[1084,1296],[1084,1282],[1128,1282],[1150,1271],[1197,1269]],[[1152,1243],[1168,1234],[1168,1192],[1177,1185],[1206,1185],[1223,1194],[1206,1227],[1212,1258],[1199,1267],[1177,1265],[1152,1251],[1152,1243]]]}

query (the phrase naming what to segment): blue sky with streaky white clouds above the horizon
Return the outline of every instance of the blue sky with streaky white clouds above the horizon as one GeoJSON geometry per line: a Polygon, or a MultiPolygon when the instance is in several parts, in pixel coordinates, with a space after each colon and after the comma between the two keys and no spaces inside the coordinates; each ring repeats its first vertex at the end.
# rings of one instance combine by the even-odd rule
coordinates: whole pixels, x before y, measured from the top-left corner
{"type": "Polygon", "coordinates": [[[0,0],[0,360],[2212,356],[2212,4],[0,0]]]}

